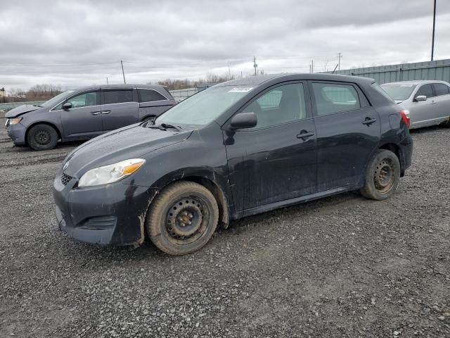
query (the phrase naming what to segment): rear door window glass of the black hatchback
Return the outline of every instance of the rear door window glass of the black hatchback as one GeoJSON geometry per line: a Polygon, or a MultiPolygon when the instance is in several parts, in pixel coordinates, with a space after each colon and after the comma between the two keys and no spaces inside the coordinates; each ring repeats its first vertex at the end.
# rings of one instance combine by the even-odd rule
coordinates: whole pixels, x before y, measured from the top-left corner
{"type": "Polygon", "coordinates": [[[358,92],[351,84],[312,83],[318,116],[361,108],[358,92]]]}

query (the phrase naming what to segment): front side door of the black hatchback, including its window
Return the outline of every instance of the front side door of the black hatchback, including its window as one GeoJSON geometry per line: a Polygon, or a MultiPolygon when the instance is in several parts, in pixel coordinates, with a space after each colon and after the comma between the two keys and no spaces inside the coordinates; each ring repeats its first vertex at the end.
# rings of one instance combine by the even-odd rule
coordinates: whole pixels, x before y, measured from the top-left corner
{"type": "Polygon", "coordinates": [[[303,82],[280,84],[243,109],[258,121],[226,142],[236,211],[316,192],[316,130],[305,92],[303,82]]]}

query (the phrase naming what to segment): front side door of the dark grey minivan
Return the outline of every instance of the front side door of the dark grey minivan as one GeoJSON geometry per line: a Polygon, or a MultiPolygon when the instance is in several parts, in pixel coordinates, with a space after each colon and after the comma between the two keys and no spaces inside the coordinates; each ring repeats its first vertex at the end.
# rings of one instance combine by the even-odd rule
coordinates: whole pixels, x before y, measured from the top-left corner
{"type": "Polygon", "coordinates": [[[65,139],[91,139],[103,133],[99,93],[83,92],[66,101],[72,108],[61,110],[65,139]]]}

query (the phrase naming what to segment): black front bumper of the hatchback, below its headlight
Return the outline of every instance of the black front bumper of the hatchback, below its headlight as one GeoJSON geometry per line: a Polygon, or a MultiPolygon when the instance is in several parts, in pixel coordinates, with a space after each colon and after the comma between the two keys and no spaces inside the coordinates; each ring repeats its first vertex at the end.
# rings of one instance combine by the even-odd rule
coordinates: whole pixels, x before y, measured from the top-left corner
{"type": "Polygon", "coordinates": [[[53,181],[56,218],[61,230],[80,242],[141,244],[144,220],[157,190],[122,182],[77,188],[77,178],[53,181]]]}

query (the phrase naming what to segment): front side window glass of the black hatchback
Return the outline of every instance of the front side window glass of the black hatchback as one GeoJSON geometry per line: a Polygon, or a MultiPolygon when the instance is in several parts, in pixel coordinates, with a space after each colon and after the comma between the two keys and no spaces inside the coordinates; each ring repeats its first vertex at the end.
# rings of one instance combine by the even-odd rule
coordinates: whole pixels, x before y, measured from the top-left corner
{"type": "Polygon", "coordinates": [[[255,128],[270,127],[307,117],[302,83],[284,84],[259,96],[243,113],[255,113],[258,123],[255,128]]]}

